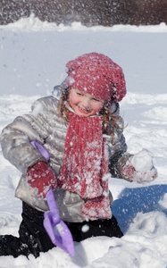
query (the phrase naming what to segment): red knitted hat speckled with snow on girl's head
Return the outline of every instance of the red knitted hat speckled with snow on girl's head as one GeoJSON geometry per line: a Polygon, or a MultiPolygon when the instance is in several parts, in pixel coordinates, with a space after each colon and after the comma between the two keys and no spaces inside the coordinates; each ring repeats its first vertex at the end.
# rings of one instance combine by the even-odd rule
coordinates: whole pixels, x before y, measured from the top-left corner
{"type": "Polygon", "coordinates": [[[121,67],[109,57],[96,52],[83,54],[66,64],[67,85],[98,98],[120,102],[126,95],[121,67]]]}

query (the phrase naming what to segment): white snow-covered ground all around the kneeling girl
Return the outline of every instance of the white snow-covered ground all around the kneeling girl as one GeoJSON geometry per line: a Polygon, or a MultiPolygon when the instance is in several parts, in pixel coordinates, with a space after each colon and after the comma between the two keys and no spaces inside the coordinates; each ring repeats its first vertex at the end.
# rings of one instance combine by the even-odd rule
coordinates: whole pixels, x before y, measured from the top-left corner
{"type": "MultiPolygon", "coordinates": [[[[158,178],[146,185],[111,179],[113,214],[124,237],[75,243],[71,257],[54,248],[38,259],[1,256],[0,267],[166,268],[167,266],[167,26],[71,27],[31,16],[0,26],[0,131],[28,113],[39,96],[65,78],[64,66],[79,54],[99,52],[123,68],[128,94],[121,114],[132,154],[152,151],[158,178]]],[[[20,172],[0,151],[0,234],[18,235],[21,201],[14,198],[20,172]]]]}

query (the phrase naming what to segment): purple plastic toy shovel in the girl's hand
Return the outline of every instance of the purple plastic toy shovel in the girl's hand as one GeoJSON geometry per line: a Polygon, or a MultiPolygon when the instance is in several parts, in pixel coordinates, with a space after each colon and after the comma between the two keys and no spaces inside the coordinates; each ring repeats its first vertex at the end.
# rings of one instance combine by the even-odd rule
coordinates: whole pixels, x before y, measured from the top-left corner
{"type": "MultiPolygon", "coordinates": [[[[46,160],[49,159],[49,154],[46,151],[46,148],[38,144],[37,141],[31,141],[33,147],[38,149],[38,151],[46,157],[46,160]]],[[[44,214],[44,227],[51,241],[55,246],[61,247],[65,252],[70,255],[75,255],[75,249],[73,244],[73,239],[71,236],[71,231],[67,225],[61,220],[59,210],[57,208],[54,192],[52,188],[46,193],[47,204],[49,210],[44,214]]]]}

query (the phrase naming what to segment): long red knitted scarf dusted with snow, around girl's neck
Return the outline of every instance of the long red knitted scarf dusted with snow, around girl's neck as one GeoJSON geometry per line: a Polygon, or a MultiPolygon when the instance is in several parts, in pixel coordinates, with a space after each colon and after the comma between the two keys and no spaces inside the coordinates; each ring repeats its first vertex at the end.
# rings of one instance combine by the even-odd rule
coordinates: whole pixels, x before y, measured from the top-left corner
{"type": "Polygon", "coordinates": [[[73,114],[65,139],[58,187],[88,199],[81,212],[90,220],[111,218],[108,197],[108,150],[102,136],[102,117],[73,114]],[[105,176],[104,176],[105,175],[105,176]]]}

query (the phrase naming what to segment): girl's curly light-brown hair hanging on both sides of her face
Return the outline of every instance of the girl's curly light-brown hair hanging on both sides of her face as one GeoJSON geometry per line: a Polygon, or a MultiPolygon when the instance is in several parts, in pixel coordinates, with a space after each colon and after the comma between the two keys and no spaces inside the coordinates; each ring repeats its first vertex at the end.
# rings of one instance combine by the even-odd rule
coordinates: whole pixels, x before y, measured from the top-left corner
{"type": "MultiPolygon", "coordinates": [[[[60,98],[60,102],[58,105],[58,112],[61,118],[63,118],[64,121],[69,121],[70,116],[68,113],[68,110],[66,108],[66,104],[69,104],[69,94],[70,94],[71,88],[67,87],[64,88],[62,96],[60,98]]],[[[113,113],[116,113],[119,109],[119,105],[116,105],[115,110],[112,112],[110,109],[110,102],[104,101],[104,105],[99,112],[103,116],[103,132],[104,134],[111,135],[112,134],[112,144],[113,144],[113,137],[114,137],[114,130],[120,130],[121,127],[119,126],[119,121],[121,121],[121,116],[113,115],[113,113]]]]}

